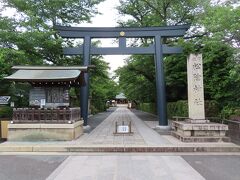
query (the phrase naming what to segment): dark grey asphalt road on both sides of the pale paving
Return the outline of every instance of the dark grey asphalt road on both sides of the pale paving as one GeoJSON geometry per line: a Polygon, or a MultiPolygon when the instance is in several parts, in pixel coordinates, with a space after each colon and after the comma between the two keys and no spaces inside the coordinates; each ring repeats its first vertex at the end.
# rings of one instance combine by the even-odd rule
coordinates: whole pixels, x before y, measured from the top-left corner
{"type": "MultiPolygon", "coordinates": [[[[160,155],[156,154],[156,156],[160,155]]],[[[0,179],[43,180],[67,157],[59,155],[1,155],[0,179]]],[[[181,157],[206,180],[240,179],[240,155],[184,155],[181,157]]]]}

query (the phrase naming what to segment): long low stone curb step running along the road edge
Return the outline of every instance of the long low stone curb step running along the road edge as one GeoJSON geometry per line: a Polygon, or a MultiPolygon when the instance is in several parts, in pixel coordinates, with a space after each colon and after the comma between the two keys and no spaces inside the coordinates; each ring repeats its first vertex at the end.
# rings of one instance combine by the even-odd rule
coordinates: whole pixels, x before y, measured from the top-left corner
{"type": "Polygon", "coordinates": [[[0,146],[0,152],[240,152],[240,146],[158,146],[158,147],[92,147],[92,146],[0,146]]]}

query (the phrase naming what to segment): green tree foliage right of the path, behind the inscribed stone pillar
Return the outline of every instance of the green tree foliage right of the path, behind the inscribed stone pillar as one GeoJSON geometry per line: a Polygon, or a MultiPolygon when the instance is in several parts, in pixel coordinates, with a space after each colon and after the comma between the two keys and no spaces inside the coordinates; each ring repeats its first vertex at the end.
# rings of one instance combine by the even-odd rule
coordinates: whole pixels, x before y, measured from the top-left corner
{"type": "MultiPolygon", "coordinates": [[[[210,0],[121,0],[120,3],[119,14],[130,16],[119,21],[120,26],[191,25],[184,38],[163,39],[170,46],[184,49],[183,54],[164,57],[168,101],[187,99],[187,56],[202,53],[205,99],[216,100],[222,108],[240,106],[239,4],[210,0]]],[[[155,101],[154,68],[153,56],[134,55],[117,70],[127,97],[138,102],[155,101]]]]}

